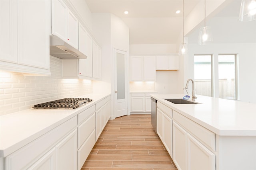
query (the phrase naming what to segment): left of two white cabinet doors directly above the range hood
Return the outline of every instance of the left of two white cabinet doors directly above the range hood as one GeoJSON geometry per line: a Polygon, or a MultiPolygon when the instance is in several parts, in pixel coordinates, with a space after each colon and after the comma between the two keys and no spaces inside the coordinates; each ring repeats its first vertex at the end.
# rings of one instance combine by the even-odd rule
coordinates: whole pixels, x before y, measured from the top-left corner
{"type": "Polygon", "coordinates": [[[62,0],[52,0],[52,34],[67,42],[67,11],[62,0]]]}

